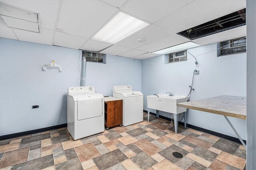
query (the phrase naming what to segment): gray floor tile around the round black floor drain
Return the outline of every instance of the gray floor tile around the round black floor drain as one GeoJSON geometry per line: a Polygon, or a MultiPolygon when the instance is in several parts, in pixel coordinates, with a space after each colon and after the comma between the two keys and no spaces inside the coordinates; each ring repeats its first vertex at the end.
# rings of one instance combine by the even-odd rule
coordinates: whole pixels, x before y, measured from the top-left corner
{"type": "Polygon", "coordinates": [[[160,155],[162,155],[164,158],[170,160],[172,163],[176,163],[180,160],[180,158],[176,158],[172,155],[172,152],[180,152],[183,156],[186,156],[189,152],[176,146],[176,145],[171,145],[170,147],[161,150],[158,152],[160,155]]]}

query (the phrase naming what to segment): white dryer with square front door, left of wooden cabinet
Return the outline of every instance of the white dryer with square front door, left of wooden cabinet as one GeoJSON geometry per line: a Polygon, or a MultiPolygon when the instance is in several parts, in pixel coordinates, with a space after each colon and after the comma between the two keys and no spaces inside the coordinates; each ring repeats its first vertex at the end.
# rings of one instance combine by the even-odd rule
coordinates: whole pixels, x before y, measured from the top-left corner
{"type": "Polygon", "coordinates": [[[68,88],[68,131],[74,140],[104,131],[104,97],[94,87],[68,88]]]}

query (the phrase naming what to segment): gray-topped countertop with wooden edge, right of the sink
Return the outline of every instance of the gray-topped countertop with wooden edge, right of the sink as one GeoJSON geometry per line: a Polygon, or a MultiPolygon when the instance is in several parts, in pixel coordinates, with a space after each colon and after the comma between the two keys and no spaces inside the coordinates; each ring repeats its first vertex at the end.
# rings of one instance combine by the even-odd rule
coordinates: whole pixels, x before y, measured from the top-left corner
{"type": "Polygon", "coordinates": [[[246,119],[246,97],[217,96],[191,102],[177,103],[177,106],[246,119]]]}

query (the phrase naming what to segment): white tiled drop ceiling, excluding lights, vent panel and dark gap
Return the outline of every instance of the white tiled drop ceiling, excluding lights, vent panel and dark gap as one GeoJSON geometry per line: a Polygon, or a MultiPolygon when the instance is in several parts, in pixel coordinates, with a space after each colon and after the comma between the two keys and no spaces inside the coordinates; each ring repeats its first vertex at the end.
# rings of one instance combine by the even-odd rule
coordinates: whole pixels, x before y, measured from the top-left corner
{"type": "MultiPolygon", "coordinates": [[[[134,59],[190,41],[176,33],[245,8],[245,0],[0,0],[40,15],[40,33],[7,27],[0,18],[0,37],[73,49],[100,51],[134,59]],[[91,39],[122,11],[149,23],[115,44],[91,39]],[[138,42],[137,39],[145,39],[138,42]]],[[[246,26],[192,40],[200,45],[246,36],[246,26]]]]}

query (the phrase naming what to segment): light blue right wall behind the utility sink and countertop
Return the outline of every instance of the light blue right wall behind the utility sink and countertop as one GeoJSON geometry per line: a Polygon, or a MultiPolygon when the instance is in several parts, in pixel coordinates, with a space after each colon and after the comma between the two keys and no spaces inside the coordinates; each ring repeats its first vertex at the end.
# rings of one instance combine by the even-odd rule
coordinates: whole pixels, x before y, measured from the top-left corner
{"type": "MultiPolygon", "coordinates": [[[[158,93],[172,92],[178,96],[187,96],[191,85],[194,69],[200,70],[194,76],[190,100],[200,100],[220,95],[246,96],[246,53],[217,57],[217,44],[210,44],[189,49],[197,56],[199,67],[188,54],[188,61],[164,64],[164,55],[144,59],[142,61],[142,93],[144,94],[144,109],[147,108],[146,96],[158,93]]],[[[152,110],[154,112],[154,110],[152,110]]],[[[170,117],[169,113],[160,115],[170,117]]],[[[181,117],[180,117],[181,118],[181,117]]],[[[246,121],[230,118],[234,127],[246,139],[246,121]]],[[[226,119],[221,115],[202,111],[188,110],[188,123],[236,137],[226,119]]]]}

